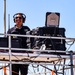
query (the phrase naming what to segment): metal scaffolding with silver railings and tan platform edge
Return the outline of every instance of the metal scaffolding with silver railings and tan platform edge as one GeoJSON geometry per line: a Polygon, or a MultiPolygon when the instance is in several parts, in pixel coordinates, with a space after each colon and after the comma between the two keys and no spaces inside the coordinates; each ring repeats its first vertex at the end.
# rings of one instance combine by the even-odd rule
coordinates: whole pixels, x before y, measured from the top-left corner
{"type": "MultiPolygon", "coordinates": [[[[1,34],[4,35],[4,34],[1,34]]],[[[21,36],[21,37],[38,37],[38,38],[49,38],[49,37],[43,37],[43,36],[32,36],[32,35],[15,35],[15,34],[6,34],[6,36],[9,36],[9,46],[7,47],[0,47],[0,50],[4,50],[3,52],[0,52],[0,63],[9,64],[9,75],[11,75],[12,72],[12,64],[29,64],[32,65],[33,68],[35,66],[41,66],[42,68],[50,72],[53,72],[56,75],[66,75],[65,70],[66,68],[69,68],[70,75],[74,75],[74,64],[73,60],[75,59],[75,52],[70,51],[55,51],[55,50],[39,50],[39,49],[22,49],[22,48],[11,48],[11,36],[21,36]],[[8,52],[6,51],[8,50],[8,52]],[[27,53],[14,53],[11,52],[11,50],[24,50],[28,51],[27,53]],[[32,51],[32,53],[29,53],[29,51],[32,51]],[[41,52],[63,52],[66,53],[65,55],[55,55],[55,54],[42,54],[41,52]],[[70,64],[66,63],[66,61],[70,61],[70,64]],[[54,69],[52,69],[49,66],[53,66],[54,69]],[[57,70],[57,67],[61,66],[62,69],[59,72],[57,70]]],[[[63,38],[63,37],[50,37],[53,39],[65,39],[74,41],[75,38],[63,38]]],[[[39,68],[39,67],[37,67],[39,68]]],[[[49,72],[49,73],[50,73],[49,72]]],[[[44,73],[37,73],[33,75],[47,75],[47,72],[44,73]]],[[[29,74],[28,74],[29,75],[29,74]]]]}

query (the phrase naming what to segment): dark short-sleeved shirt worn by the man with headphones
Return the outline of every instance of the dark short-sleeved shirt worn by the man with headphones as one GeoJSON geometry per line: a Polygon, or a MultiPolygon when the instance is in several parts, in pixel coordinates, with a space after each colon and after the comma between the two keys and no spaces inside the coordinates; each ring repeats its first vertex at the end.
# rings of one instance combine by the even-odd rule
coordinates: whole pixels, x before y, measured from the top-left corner
{"type": "MultiPolygon", "coordinates": [[[[21,28],[16,28],[16,25],[12,27],[11,29],[8,30],[8,34],[20,34],[20,35],[26,35],[26,32],[30,31],[30,28],[27,26],[22,26],[21,28]]],[[[15,38],[15,37],[14,37],[15,38]]],[[[16,38],[21,38],[21,46],[22,48],[27,48],[27,37],[16,37],[16,38]]]]}

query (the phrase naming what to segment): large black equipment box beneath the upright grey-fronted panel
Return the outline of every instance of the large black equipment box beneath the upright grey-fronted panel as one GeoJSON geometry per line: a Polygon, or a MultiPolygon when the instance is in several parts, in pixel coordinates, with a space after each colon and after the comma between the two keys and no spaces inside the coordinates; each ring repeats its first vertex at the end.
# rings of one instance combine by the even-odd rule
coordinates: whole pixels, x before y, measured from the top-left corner
{"type": "MultiPolygon", "coordinates": [[[[65,28],[58,27],[39,27],[37,35],[48,36],[48,37],[65,37],[65,28]]],[[[46,50],[57,50],[65,51],[65,40],[64,39],[52,39],[52,38],[37,38],[35,46],[40,48],[43,44],[46,45],[46,50]]],[[[53,54],[65,54],[65,53],[54,53],[53,54]]]]}

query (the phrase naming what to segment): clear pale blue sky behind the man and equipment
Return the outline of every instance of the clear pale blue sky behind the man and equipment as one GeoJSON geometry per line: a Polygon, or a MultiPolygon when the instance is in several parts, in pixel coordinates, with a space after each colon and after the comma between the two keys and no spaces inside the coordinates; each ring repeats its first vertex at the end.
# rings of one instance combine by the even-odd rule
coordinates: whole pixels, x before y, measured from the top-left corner
{"type": "MultiPolygon", "coordinates": [[[[30,29],[45,26],[46,12],[59,12],[59,27],[66,29],[66,37],[75,38],[75,0],[6,0],[6,30],[8,14],[10,27],[14,26],[13,15],[17,12],[26,14],[24,25],[30,29]]],[[[4,0],[0,0],[0,33],[4,33],[4,0]]],[[[75,49],[74,46],[71,49],[75,49]]]]}

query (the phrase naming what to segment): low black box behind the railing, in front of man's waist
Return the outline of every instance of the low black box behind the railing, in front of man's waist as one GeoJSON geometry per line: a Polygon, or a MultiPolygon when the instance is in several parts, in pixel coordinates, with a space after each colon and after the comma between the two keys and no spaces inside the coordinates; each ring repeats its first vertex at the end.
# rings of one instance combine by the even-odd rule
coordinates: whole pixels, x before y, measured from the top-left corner
{"type": "MultiPolygon", "coordinates": [[[[0,37],[0,47],[4,47],[4,48],[9,47],[8,41],[9,41],[8,37],[0,37]]],[[[21,48],[21,47],[22,46],[21,46],[21,39],[20,38],[12,38],[11,39],[11,48],[21,48]]],[[[18,51],[15,51],[15,50],[13,50],[13,51],[18,52],[18,51]]]]}

